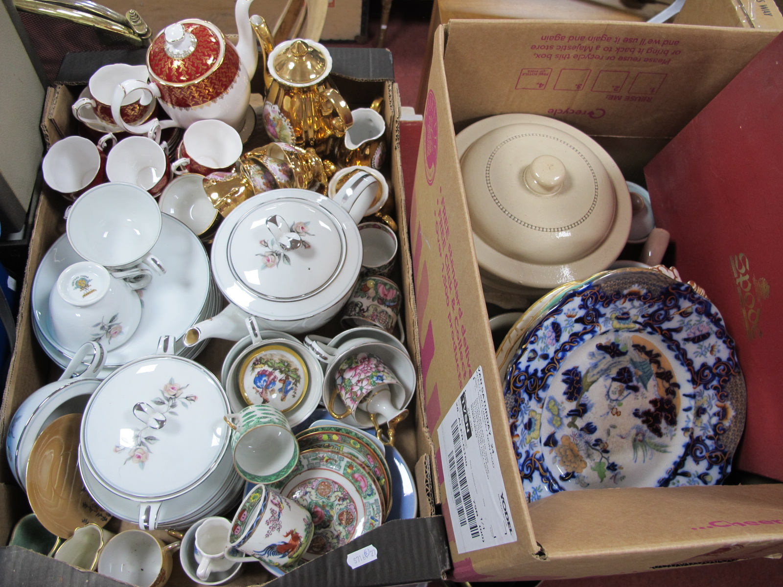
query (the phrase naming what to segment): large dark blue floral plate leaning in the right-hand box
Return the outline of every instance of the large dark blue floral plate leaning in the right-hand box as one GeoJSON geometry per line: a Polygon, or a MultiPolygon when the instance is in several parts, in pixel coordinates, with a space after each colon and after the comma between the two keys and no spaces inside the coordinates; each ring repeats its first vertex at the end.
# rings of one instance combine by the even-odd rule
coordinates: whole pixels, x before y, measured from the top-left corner
{"type": "Polygon", "coordinates": [[[720,484],[745,424],[720,313],[650,269],[608,272],[562,297],[522,341],[504,394],[528,501],[720,484]]]}

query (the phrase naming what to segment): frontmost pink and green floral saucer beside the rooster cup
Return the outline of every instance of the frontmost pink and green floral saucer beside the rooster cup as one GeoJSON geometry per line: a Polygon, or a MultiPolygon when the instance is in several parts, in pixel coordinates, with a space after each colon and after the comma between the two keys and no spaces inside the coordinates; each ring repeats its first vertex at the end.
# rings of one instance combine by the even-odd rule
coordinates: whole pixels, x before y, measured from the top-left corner
{"type": "Polygon", "coordinates": [[[312,515],[315,532],[301,560],[312,560],[381,525],[381,495],[370,475],[336,452],[302,452],[288,477],[270,487],[312,515]]]}

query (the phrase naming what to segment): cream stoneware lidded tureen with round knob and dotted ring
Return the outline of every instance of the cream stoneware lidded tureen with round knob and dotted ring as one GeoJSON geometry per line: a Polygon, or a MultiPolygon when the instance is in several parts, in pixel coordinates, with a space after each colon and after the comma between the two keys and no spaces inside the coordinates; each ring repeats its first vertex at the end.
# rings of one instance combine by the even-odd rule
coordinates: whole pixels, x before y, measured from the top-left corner
{"type": "Polygon", "coordinates": [[[465,128],[456,146],[487,301],[526,305],[607,268],[625,246],[625,179],[582,131],[502,114],[465,128]]]}

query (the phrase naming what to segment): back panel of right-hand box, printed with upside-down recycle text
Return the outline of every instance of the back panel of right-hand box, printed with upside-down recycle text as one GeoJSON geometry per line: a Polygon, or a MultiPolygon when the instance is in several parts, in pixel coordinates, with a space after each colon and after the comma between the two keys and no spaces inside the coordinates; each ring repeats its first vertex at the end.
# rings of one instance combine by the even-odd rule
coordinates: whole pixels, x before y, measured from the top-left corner
{"type": "Polygon", "coordinates": [[[453,121],[460,130],[479,117],[525,112],[588,135],[671,137],[776,34],[649,23],[453,20],[444,58],[453,121]]]}

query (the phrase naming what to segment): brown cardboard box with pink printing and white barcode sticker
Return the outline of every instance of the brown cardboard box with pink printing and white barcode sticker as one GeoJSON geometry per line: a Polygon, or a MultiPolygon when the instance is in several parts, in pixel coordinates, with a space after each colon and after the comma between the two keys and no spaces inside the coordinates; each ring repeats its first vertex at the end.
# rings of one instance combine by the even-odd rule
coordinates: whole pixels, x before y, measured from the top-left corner
{"type": "Polygon", "coordinates": [[[480,118],[534,113],[585,131],[627,178],[643,178],[644,164],[774,37],[554,20],[438,27],[410,235],[435,495],[456,580],[576,578],[783,553],[780,484],[587,490],[525,502],[455,144],[456,132],[480,118]],[[439,430],[444,422],[454,427],[439,430]],[[482,452],[449,454],[459,430],[482,452]],[[455,495],[446,495],[446,477],[457,482],[455,495]]]}

